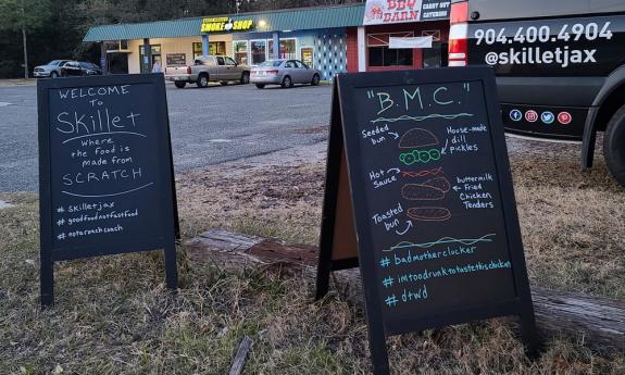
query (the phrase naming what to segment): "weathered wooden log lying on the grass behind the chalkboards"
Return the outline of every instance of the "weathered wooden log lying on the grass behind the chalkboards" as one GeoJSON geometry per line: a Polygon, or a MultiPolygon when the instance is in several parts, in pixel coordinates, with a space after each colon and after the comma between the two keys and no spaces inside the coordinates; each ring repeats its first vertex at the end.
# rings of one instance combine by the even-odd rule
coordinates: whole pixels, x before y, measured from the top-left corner
{"type": "MultiPolygon", "coordinates": [[[[314,277],[317,248],[285,243],[215,229],[185,243],[192,262],[212,263],[222,270],[265,266],[279,272],[298,272],[314,277]]],[[[335,288],[353,303],[362,303],[358,268],[333,273],[335,288]]],[[[596,350],[625,350],[625,302],[578,292],[533,287],[536,323],[543,338],[566,336],[596,350]]]]}

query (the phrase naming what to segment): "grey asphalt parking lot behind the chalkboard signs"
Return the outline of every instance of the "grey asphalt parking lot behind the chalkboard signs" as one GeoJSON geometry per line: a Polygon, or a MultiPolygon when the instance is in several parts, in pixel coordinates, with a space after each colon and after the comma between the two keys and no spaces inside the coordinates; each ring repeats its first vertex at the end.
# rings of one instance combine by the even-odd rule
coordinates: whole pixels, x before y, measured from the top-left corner
{"type": "MultiPolygon", "coordinates": [[[[324,141],[330,97],[330,86],[167,85],[174,168],[182,173],[324,141]]],[[[36,87],[0,87],[0,191],[37,186],[36,87]]]]}

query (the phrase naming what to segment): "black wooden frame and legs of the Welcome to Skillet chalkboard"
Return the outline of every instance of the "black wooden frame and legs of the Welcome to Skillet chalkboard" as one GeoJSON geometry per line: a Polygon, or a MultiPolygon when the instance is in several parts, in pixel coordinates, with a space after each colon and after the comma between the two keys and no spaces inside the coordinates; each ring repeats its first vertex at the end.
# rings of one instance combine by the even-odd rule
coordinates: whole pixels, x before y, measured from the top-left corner
{"type": "Polygon", "coordinates": [[[40,290],[41,305],[54,302],[54,262],[84,259],[101,255],[122,254],[162,249],[165,257],[165,275],[167,288],[175,290],[178,286],[176,265],[176,238],[179,238],[178,210],[174,180],[174,165],[171,147],[170,120],[165,83],[162,74],[111,75],[98,77],[75,77],[63,79],[41,79],[37,82],[38,140],[39,140],[39,223],[40,223],[40,290]],[[166,132],[157,132],[158,143],[162,149],[159,159],[161,171],[160,200],[163,213],[163,227],[172,228],[162,234],[161,239],[152,241],[126,242],[105,248],[105,246],[84,247],[80,251],[54,249],[52,242],[52,190],[51,190],[51,145],[49,123],[49,91],[51,89],[80,88],[109,85],[141,85],[154,87],[157,115],[166,122],[166,132]]]}

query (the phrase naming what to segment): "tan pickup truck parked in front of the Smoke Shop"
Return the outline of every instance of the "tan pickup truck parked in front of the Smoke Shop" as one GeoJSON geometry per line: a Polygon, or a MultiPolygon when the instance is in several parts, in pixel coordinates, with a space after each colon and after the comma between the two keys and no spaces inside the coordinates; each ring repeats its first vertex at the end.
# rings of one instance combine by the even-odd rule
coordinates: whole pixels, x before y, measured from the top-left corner
{"type": "Polygon", "coordinates": [[[228,57],[203,55],[197,57],[191,66],[166,66],[165,79],[172,80],[177,88],[185,88],[187,84],[207,87],[209,82],[218,82],[222,85],[233,80],[249,84],[250,70],[228,57]]]}

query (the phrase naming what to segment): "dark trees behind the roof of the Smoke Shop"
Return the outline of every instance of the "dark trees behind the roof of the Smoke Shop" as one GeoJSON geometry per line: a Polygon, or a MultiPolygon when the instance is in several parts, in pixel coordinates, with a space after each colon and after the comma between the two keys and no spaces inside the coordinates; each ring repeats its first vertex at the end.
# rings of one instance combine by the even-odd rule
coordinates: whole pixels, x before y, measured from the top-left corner
{"type": "Polygon", "coordinates": [[[0,78],[32,75],[54,59],[97,63],[83,43],[91,26],[239,12],[321,7],[363,0],[0,0],[0,78]]]}

